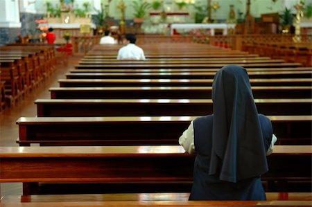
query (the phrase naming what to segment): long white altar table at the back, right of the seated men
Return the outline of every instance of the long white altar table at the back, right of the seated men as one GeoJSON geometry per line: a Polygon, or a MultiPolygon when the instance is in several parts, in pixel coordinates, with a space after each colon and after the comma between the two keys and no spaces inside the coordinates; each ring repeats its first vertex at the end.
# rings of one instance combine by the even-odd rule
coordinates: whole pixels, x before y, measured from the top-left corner
{"type": "Polygon", "coordinates": [[[223,35],[227,35],[227,30],[234,29],[236,24],[171,24],[170,32],[173,35],[173,30],[177,33],[189,33],[194,29],[210,30],[210,35],[214,36],[216,29],[223,30],[223,35]]]}

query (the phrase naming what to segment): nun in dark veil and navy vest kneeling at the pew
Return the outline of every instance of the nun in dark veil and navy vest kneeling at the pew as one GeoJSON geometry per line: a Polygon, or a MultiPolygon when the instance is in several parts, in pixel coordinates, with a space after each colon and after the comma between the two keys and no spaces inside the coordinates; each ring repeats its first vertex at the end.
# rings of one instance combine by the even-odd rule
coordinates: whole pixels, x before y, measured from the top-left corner
{"type": "Polygon", "coordinates": [[[212,84],[214,114],[196,118],[179,138],[196,154],[189,200],[266,200],[261,174],[277,138],[258,114],[247,71],[220,69],[212,84]]]}

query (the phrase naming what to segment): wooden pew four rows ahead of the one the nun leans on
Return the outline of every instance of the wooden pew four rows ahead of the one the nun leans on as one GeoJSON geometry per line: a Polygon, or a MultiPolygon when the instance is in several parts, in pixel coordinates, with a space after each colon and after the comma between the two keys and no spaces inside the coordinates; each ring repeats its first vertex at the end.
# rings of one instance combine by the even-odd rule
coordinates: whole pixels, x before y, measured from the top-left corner
{"type": "MultiPolygon", "coordinates": [[[[60,87],[211,87],[213,79],[59,79],[60,87]]],[[[312,78],[250,79],[252,86],[311,86],[312,78]]]]}

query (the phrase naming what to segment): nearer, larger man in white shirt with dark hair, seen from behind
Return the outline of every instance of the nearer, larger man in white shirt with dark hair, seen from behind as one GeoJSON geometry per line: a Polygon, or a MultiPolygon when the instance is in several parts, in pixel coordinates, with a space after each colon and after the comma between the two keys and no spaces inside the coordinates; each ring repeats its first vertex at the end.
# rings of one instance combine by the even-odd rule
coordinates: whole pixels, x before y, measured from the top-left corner
{"type": "Polygon", "coordinates": [[[142,48],[135,45],[136,41],[137,37],[134,34],[125,34],[125,46],[119,49],[117,60],[146,60],[142,48]]]}

